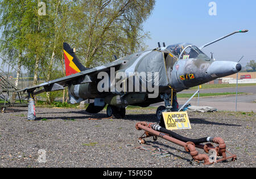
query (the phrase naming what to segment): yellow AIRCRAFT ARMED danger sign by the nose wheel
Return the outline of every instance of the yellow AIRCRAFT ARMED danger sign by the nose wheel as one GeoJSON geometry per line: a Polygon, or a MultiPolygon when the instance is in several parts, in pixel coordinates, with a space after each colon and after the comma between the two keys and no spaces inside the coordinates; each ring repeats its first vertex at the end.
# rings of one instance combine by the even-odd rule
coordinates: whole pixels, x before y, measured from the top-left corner
{"type": "Polygon", "coordinates": [[[168,130],[191,129],[187,112],[164,112],[163,118],[168,130]]]}

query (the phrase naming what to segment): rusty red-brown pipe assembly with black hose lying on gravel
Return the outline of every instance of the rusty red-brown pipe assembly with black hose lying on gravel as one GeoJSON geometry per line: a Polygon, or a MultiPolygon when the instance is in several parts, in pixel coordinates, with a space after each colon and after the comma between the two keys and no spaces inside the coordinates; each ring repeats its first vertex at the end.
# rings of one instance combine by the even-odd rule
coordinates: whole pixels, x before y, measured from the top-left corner
{"type": "Polygon", "coordinates": [[[173,131],[164,129],[163,127],[155,124],[147,124],[146,122],[139,122],[136,124],[137,130],[144,130],[144,134],[146,134],[146,137],[139,138],[139,142],[143,144],[145,142],[144,138],[153,137],[154,140],[156,140],[156,137],[160,137],[163,139],[166,139],[172,143],[178,144],[179,146],[182,146],[185,148],[185,151],[189,152],[197,163],[199,161],[204,160],[205,165],[218,163],[220,161],[232,159],[232,161],[235,161],[237,159],[237,156],[234,154],[231,154],[229,151],[226,151],[226,144],[224,140],[220,137],[205,137],[200,139],[189,139],[182,137],[179,134],[174,133],[173,131]],[[201,144],[205,142],[212,142],[218,144],[217,147],[214,147],[212,143],[207,144],[201,144]],[[196,150],[197,148],[203,149],[207,154],[199,154],[199,152],[196,150]],[[226,152],[229,154],[229,156],[226,155],[226,152]],[[222,156],[222,159],[217,159],[217,156],[222,156]]]}

